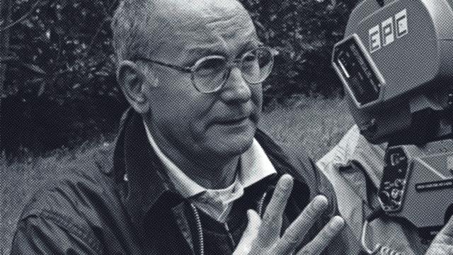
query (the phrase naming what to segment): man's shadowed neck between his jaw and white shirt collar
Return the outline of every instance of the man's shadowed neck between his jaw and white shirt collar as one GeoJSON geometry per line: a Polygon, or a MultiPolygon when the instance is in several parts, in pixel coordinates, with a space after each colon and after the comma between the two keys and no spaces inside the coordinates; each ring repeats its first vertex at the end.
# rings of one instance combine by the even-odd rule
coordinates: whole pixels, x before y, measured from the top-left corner
{"type": "Polygon", "coordinates": [[[147,128],[161,152],[198,185],[207,189],[220,189],[234,182],[239,156],[209,158],[207,155],[190,154],[188,149],[181,152],[157,128],[152,125],[147,125],[147,128]]]}

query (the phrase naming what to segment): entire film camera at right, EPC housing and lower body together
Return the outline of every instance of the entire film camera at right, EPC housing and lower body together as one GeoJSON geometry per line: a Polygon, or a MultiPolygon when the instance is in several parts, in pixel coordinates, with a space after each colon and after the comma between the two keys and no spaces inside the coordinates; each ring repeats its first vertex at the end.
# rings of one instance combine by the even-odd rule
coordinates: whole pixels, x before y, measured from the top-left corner
{"type": "Polygon", "coordinates": [[[388,142],[379,202],[420,233],[453,214],[453,0],[365,0],[332,64],[369,142],[388,142]]]}

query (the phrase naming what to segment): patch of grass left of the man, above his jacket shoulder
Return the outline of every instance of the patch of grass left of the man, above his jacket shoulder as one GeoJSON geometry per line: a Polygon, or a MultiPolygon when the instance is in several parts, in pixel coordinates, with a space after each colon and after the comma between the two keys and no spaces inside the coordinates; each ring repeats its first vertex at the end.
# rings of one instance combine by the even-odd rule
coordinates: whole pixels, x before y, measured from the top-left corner
{"type": "MultiPolygon", "coordinates": [[[[65,162],[76,164],[79,157],[92,157],[99,149],[113,146],[104,142],[86,142],[78,149],[59,149],[47,157],[26,157],[21,162],[6,162],[0,156],[0,255],[10,254],[16,222],[23,207],[40,184],[60,174],[57,166],[65,162]]],[[[60,169],[60,170],[59,170],[60,169]]]]}

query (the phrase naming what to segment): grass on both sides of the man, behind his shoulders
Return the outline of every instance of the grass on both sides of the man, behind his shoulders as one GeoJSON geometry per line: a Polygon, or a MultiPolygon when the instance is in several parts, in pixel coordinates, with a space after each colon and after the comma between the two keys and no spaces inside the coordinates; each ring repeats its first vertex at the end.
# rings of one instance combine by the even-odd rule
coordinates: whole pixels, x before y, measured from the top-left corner
{"type": "MultiPolygon", "coordinates": [[[[260,128],[296,152],[319,159],[340,140],[352,125],[344,101],[292,98],[290,106],[276,106],[263,113],[260,128]]],[[[36,187],[55,176],[63,161],[74,161],[110,146],[109,139],[86,143],[73,151],[59,150],[48,157],[28,157],[6,164],[0,156],[0,254],[9,254],[16,222],[36,187]]]]}

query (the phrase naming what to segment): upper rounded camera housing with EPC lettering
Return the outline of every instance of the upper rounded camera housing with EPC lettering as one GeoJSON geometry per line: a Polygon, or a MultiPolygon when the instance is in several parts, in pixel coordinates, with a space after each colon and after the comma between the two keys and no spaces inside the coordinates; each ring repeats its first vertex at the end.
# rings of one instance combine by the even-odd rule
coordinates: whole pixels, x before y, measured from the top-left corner
{"type": "Polygon", "coordinates": [[[352,11],[332,62],[369,142],[420,145],[451,134],[451,123],[434,118],[453,102],[452,21],[452,0],[365,0],[352,11]]]}

